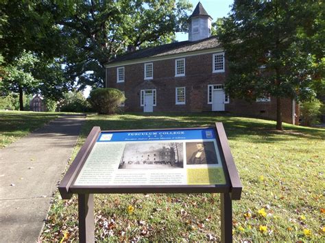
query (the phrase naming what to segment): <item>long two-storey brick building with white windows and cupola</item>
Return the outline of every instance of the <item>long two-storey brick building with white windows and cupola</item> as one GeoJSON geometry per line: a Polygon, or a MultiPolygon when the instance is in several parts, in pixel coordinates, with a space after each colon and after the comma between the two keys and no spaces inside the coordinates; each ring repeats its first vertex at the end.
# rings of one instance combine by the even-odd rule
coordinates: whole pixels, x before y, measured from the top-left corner
{"type": "MultiPolygon", "coordinates": [[[[198,3],[189,40],[130,51],[106,64],[106,87],[124,92],[130,112],[232,112],[275,119],[276,99],[248,103],[224,92],[224,49],[210,36],[212,18],[198,3]]],[[[295,101],[282,101],[282,120],[298,123],[295,101]]]]}

